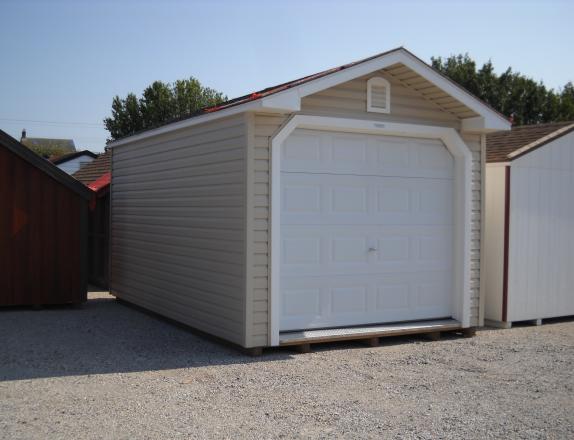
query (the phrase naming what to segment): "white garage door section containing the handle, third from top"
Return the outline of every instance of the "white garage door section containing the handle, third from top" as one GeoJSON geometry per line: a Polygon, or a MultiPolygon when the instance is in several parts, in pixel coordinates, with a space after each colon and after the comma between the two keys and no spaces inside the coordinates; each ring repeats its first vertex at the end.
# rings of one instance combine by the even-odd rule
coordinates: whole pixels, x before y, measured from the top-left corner
{"type": "Polygon", "coordinates": [[[283,276],[450,271],[453,265],[448,226],[286,225],[281,235],[283,276]]]}

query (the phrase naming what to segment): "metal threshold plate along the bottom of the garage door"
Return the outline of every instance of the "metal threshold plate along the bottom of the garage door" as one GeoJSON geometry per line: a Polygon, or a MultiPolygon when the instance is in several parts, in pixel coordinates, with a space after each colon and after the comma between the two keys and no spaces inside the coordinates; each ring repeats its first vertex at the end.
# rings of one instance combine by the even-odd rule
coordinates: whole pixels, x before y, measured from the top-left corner
{"type": "Polygon", "coordinates": [[[374,337],[409,335],[449,331],[462,328],[454,319],[433,321],[402,322],[394,324],[370,325],[365,327],[342,327],[323,330],[300,330],[279,334],[279,345],[342,341],[346,339],[367,339],[374,337]]]}

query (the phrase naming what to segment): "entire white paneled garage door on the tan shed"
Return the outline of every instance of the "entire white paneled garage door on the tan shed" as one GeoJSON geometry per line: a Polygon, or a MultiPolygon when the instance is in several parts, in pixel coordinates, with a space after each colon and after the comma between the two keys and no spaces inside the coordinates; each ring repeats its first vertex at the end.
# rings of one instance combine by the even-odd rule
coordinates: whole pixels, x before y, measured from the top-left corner
{"type": "Polygon", "coordinates": [[[281,150],[281,325],[450,317],[454,160],[436,140],[296,130],[281,150]]]}

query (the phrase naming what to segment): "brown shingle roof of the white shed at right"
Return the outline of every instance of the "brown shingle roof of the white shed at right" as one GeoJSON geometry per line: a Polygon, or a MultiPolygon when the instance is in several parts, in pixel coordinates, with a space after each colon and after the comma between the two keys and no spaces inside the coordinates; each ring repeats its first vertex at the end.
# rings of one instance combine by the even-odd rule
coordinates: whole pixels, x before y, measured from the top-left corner
{"type": "Polygon", "coordinates": [[[574,121],[523,125],[512,127],[510,131],[490,133],[486,136],[486,161],[508,162],[521,155],[509,157],[517,150],[530,144],[534,144],[532,147],[540,147],[572,130],[574,121]]]}

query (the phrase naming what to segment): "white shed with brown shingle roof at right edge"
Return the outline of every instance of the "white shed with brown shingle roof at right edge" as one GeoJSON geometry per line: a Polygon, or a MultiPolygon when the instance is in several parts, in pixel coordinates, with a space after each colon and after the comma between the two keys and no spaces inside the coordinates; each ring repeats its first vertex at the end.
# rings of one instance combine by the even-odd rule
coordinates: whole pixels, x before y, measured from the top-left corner
{"type": "Polygon", "coordinates": [[[574,315],[574,122],[487,137],[486,319],[574,315]]]}

